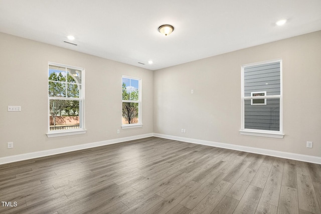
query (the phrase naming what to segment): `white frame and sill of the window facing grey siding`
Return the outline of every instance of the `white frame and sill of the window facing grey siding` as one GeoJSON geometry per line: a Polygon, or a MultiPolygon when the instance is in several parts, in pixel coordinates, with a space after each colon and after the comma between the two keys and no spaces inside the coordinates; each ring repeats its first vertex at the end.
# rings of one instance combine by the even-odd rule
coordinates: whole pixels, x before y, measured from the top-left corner
{"type": "MultiPolygon", "coordinates": [[[[273,138],[283,138],[283,96],[282,96],[282,59],[277,59],[277,60],[270,60],[270,61],[264,61],[264,62],[258,62],[258,63],[251,63],[251,64],[246,64],[241,66],[241,130],[240,134],[242,135],[252,135],[252,136],[262,136],[262,137],[273,137],[273,138]],[[250,66],[257,66],[257,65],[263,65],[263,64],[268,64],[268,63],[275,63],[279,62],[280,63],[280,95],[268,95],[268,96],[249,96],[245,97],[244,96],[244,69],[246,67],[250,66]],[[245,115],[244,115],[244,103],[245,100],[253,100],[253,99],[273,99],[273,98],[279,98],[280,99],[280,128],[279,131],[273,131],[273,130],[260,130],[260,129],[247,129],[245,128],[245,115]]],[[[259,93],[259,92],[257,92],[259,93]]],[[[252,104],[252,102],[251,102],[252,104]]],[[[255,104],[254,104],[255,105],[255,104]]]]}

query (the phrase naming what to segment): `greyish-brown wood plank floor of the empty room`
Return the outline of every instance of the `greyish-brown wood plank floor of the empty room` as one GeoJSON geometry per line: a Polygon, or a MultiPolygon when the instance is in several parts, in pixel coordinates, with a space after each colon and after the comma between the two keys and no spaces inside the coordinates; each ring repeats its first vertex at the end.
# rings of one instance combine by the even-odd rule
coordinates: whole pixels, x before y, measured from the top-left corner
{"type": "Polygon", "coordinates": [[[321,165],[150,137],[0,165],[0,201],[8,214],[319,214],[321,165]]]}

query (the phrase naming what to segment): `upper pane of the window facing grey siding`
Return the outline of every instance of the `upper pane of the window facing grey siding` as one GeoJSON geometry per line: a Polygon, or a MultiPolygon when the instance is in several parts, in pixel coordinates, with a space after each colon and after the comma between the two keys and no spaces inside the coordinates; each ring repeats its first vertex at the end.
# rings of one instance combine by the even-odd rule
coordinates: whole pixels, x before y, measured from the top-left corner
{"type": "Polygon", "coordinates": [[[266,96],[280,95],[280,63],[267,63],[244,68],[244,96],[266,91],[266,96]]]}

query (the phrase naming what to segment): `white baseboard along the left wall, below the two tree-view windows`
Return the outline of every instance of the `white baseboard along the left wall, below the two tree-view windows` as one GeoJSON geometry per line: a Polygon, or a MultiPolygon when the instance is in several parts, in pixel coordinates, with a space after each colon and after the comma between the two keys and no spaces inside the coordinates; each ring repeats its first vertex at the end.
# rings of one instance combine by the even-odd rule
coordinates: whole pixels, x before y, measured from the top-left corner
{"type": "Polygon", "coordinates": [[[146,137],[152,137],[153,134],[142,134],[142,135],[135,135],[131,137],[123,137],[123,138],[116,138],[116,139],[111,139],[111,140],[104,140],[104,141],[99,141],[99,142],[94,142],[94,143],[86,143],[86,144],[80,144],[80,145],[75,145],[75,146],[68,146],[68,147],[62,147],[62,148],[56,148],[56,149],[50,149],[50,150],[44,150],[44,151],[36,151],[36,152],[30,152],[30,153],[25,153],[25,154],[19,154],[19,155],[12,155],[8,157],[0,157],[0,165],[5,164],[5,163],[12,163],[12,162],[17,162],[21,160],[28,160],[28,159],[33,159],[37,157],[44,157],[44,156],[49,156],[49,155],[54,155],[54,154],[61,154],[65,152],[70,152],[70,151],[77,151],[81,149],[88,149],[88,148],[93,148],[97,146],[104,146],[104,145],[109,145],[109,144],[114,144],[114,143],[121,143],[129,140],[137,140],[137,139],[142,139],[146,137]]]}

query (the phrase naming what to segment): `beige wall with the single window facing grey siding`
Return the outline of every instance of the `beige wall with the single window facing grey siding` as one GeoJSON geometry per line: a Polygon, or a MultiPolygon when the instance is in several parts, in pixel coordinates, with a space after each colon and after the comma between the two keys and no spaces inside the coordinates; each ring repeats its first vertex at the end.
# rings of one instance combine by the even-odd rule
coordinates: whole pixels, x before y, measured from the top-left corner
{"type": "Polygon", "coordinates": [[[318,31],[154,71],[154,133],[321,157],[320,93],[318,31]],[[283,60],[285,136],[241,135],[241,66],[274,59],[283,60]]]}

